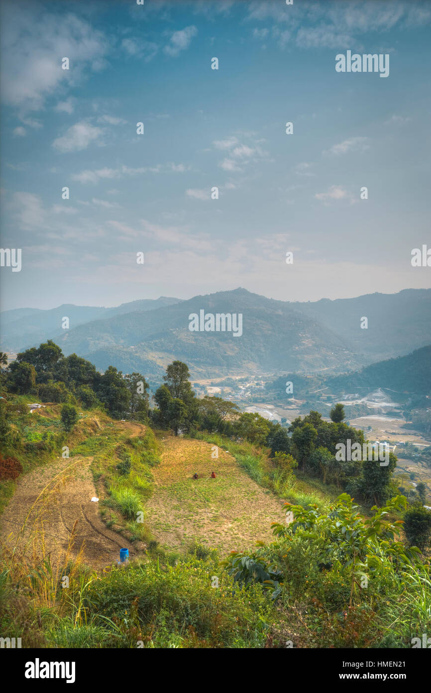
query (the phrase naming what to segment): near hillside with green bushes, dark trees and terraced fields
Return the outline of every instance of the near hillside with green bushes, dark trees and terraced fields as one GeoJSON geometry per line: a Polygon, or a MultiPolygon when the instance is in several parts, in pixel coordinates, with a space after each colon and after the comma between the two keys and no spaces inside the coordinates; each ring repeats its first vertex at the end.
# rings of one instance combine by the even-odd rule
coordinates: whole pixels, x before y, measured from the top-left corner
{"type": "Polygon", "coordinates": [[[174,362],[150,410],[140,374],[100,376],[54,347],[3,359],[3,638],[410,648],[426,633],[430,513],[420,489],[398,493],[394,455],[386,470],[336,462],[336,441],[363,442],[342,407],[286,430],[196,400],[174,362]]]}

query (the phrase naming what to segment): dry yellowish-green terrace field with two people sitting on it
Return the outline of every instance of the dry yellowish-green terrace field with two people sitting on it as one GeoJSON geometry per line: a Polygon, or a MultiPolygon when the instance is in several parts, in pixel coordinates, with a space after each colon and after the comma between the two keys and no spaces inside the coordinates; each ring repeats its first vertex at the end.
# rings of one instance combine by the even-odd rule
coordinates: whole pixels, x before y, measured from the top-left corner
{"type": "Polygon", "coordinates": [[[250,479],[232,455],[219,448],[219,458],[212,459],[210,444],[168,435],[163,445],[161,464],[152,470],[154,494],[145,506],[162,545],[179,547],[196,538],[227,554],[258,539],[273,540],[270,524],[284,518],[283,501],[250,479]]]}

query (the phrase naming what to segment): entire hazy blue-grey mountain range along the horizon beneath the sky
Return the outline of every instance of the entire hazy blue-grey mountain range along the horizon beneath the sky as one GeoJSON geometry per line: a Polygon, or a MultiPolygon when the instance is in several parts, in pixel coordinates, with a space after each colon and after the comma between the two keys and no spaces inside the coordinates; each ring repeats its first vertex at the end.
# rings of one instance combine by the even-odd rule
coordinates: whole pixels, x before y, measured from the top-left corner
{"type": "MultiPolygon", "coordinates": [[[[174,359],[192,377],[229,374],[354,371],[376,360],[431,343],[431,289],[371,294],[354,299],[287,302],[245,289],[192,299],[161,297],[117,308],[64,305],[0,314],[1,348],[20,351],[51,338],[64,353],[88,358],[99,369],[159,377],[174,359]],[[191,332],[189,315],[241,313],[241,337],[191,332]],[[61,327],[62,317],[70,328],[61,327]],[[360,319],[368,318],[368,328],[360,319]]],[[[323,373],[322,373],[323,375],[323,373]]]]}

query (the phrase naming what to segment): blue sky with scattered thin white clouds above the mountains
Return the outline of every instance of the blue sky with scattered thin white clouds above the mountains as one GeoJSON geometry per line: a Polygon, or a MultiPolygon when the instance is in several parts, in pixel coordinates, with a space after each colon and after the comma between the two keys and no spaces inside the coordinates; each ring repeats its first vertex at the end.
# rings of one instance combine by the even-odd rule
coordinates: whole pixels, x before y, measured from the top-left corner
{"type": "Polygon", "coordinates": [[[3,0],[1,20],[1,247],[21,249],[1,310],[431,286],[411,264],[430,2],[3,0]],[[337,72],[347,51],[389,76],[337,72]]]}

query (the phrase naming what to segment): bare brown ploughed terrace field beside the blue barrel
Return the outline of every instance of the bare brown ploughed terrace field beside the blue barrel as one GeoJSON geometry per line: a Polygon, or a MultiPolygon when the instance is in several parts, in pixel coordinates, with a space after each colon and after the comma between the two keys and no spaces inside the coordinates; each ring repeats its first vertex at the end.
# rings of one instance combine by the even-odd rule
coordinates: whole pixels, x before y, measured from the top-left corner
{"type": "MultiPolygon", "coordinates": [[[[145,430],[140,423],[121,422],[121,428],[139,435],[145,430]]],[[[92,457],[59,458],[22,476],[15,494],[0,518],[0,541],[20,552],[51,553],[53,565],[61,564],[66,555],[75,521],[75,538],[70,556],[82,550],[82,561],[93,568],[104,568],[120,558],[120,548],[136,549],[125,538],[102,522],[90,465],[92,457]],[[25,525],[24,530],[22,529],[25,525]]]]}

